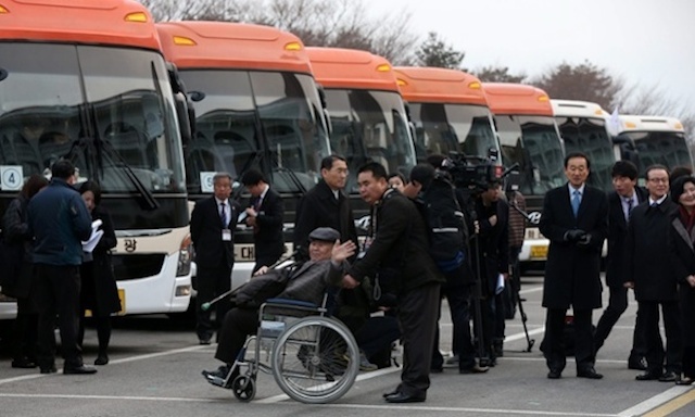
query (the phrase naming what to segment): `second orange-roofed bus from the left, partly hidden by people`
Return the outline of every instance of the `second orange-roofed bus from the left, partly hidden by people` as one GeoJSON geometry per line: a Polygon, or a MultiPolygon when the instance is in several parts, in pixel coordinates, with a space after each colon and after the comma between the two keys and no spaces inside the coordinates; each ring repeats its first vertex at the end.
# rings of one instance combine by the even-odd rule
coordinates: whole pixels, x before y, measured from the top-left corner
{"type": "MultiPolygon", "coordinates": [[[[212,177],[263,170],[285,201],[286,245],[298,199],[320,177],[330,153],[324,110],[302,41],[270,27],[224,22],[156,25],[164,54],[179,71],[195,108],[195,135],[185,148],[188,194],[212,195],[212,177]]],[[[239,190],[235,193],[239,194],[239,190]]],[[[235,232],[232,287],[251,277],[253,229],[235,232]]]]}

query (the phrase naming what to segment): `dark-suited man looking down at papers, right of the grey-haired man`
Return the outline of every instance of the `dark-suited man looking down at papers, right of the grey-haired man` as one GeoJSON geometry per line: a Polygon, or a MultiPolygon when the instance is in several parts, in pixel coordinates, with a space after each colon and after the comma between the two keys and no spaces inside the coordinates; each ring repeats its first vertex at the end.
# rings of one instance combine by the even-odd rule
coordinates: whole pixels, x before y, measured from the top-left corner
{"type": "Polygon", "coordinates": [[[256,264],[252,274],[255,274],[262,266],[273,265],[285,252],[285,208],[280,194],[270,188],[258,169],[247,170],[241,177],[241,184],[251,193],[245,223],[247,226],[253,227],[256,264]]]}

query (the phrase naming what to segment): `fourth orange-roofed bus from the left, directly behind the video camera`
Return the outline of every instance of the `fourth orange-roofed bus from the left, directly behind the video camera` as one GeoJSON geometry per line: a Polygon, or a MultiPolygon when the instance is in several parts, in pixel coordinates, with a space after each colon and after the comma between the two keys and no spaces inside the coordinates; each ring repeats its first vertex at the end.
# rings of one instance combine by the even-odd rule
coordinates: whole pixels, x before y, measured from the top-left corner
{"type": "Polygon", "coordinates": [[[434,67],[394,71],[415,125],[418,161],[432,153],[488,157],[492,150],[500,155],[492,113],[477,77],[434,67]]]}

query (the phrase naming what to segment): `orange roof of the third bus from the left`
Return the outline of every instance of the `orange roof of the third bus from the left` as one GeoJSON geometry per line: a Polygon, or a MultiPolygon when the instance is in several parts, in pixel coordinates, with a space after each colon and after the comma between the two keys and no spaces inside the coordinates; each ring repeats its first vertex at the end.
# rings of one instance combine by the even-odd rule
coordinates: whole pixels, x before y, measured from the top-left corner
{"type": "Polygon", "coordinates": [[[316,81],[326,88],[399,91],[391,63],[367,51],[306,48],[316,81]]]}

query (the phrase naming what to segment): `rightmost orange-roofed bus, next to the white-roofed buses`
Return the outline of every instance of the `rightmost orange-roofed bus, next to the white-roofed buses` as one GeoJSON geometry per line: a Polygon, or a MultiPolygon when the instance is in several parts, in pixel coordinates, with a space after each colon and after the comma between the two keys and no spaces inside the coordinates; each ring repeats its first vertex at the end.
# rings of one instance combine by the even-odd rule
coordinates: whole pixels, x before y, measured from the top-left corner
{"type": "Polygon", "coordinates": [[[519,164],[519,191],[531,224],[519,261],[545,261],[549,242],[536,226],[545,192],[566,182],[565,151],[551,100],[545,91],[522,84],[483,83],[488,105],[500,136],[502,162],[519,164]]]}

